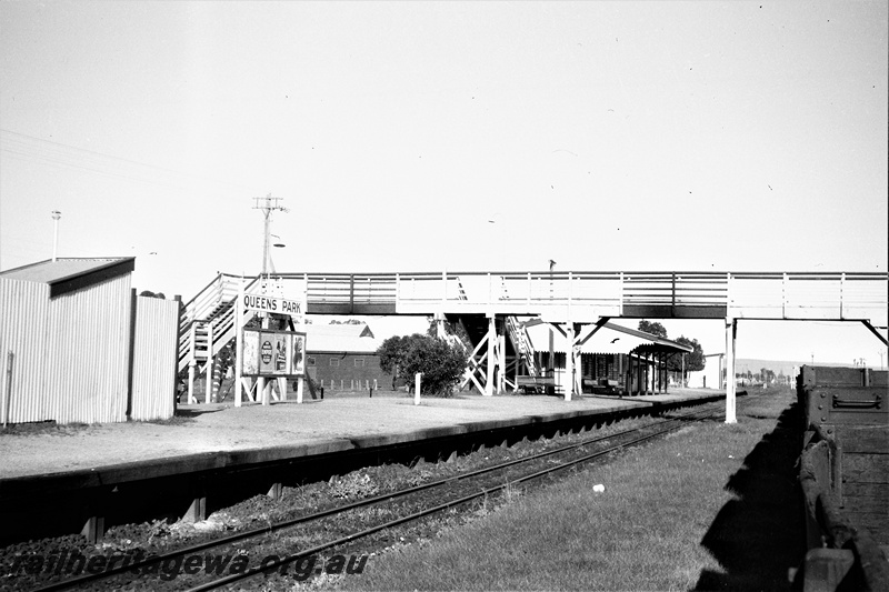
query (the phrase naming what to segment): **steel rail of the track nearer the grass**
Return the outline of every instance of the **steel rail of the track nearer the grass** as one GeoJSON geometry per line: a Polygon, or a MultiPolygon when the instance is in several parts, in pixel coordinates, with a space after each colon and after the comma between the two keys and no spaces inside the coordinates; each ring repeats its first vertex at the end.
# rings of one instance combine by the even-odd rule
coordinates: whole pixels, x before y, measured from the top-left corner
{"type": "MultiPolygon", "coordinates": [[[[700,421],[702,419],[717,417],[719,414],[720,414],[720,412],[717,411],[717,412],[710,413],[709,415],[705,415],[702,418],[696,419],[695,421],[700,421]]],[[[669,421],[679,421],[679,419],[666,420],[666,422],[669,422],[669,421]]],[[[200,584],[200,585],[197,585],[194,588],[190,588],[190,589],[188,589],[188,592],[203,592],[203,591],[207,591],[207,590],[216,590],[218,588],[221,588],[223,585],[228,585],[228,584],[237,582],[239,580],[244,580],[247,578],[252,578],[254,575],[259,575],[260,573],[270,574],[270,573],[274,572],[274,570],[277,570],[278,568],[281,568],[283,565],[287,565],[289,563],[298,561],[300,559],[318,554],[321,551],[327,551],[328,549],[331,549],[331,548],[334,548],[334,546],[338,546],[338,545],[341,545],[341,544],[344,544],[344,543],[348,543],[348,542],[351,542],[351,541],[354,541],[354,540],[358,540],[358,539],[362,539],[364,536],[369,536],[369,535],[374,534],[377,532],[380,532],[382,530],[391,529],[393,526],[398,526],[398,525],[404,524],[407,522],[412,522],[414,520],[419,520],[419,519],[424,518],[427,515],[430,515],[430,514],[433,514],[433,513],[437,513],[437,512],[441,512],[441,511],[447,510],[449,508],[453,508],[455,505],[462,505],[463,503],[470,502],[472,500],[477,500],[477,499],[482,498],[482,496],[487,496],[490,493],[495,493],[495,492],[505,490],[505,489],[507,489],[509,486],[516,485],[517,483],[523,483],[523,482],[530,481],[532,479],[537,479],[537,478],[540,478],[540,476],[545,476],[547,474],[555,473],[556,471],[560,471],[560,470],[566,469],[568,466],[573,466],[576,464],[580,464],[582,462],[587,462],[589,460],[596,459],[598,456],[602,456],[605,454],[609,454],[611,452],[615,452],[615,451],[631,446],[633,444],[638,444],[640,442],[645,442],[647,440],[651,440],[652,438],[657,438],[657,437],[662,435],[665,433],[669,433],[669,432],[679,430],[681,427],[682,427],[682,424],[679,424],[679,425],[676,425],[676,427],[668,428],[666,430],[661,430],[659,432],[655,432],[655,433],[651,433],[651,434],[647,434],[647,435],[637,438],[637,439],[631,440],[629,442],[623,442],[621,444],[616,444],[613,446],[609,446],[607,449],[599,450],[599,451],[592,452],[590,454],[586,454],[586,455],[583,455],[583,456],[581,456],[579,459],[575,459],[572,461],[568,461],[568,462],[566,462],[563,464],[559,464],[558,466],[550,466],[548,469],[542,469],[540,471],[536,471],[533,473],[529,473],[527,475],[520,476],[520,478],[515,479],[512,481],[507,481],[507,482],[505,482],[505,483],[502,483],[500,485],[496,485],[496,486],[493,486],[491,489],[483,489],[482,491],[480,491],[478,493],[470,493],[469,495],[463,495],[462,498],[458,498],[456,500],[450,500],[450,501],[447,501],[444,503],[441,503],[441,504],[432,506],[432,508],[427,508],[424,510],[421,510],[419,512],[414,512],[414,513],[409,514],[407,516],[401,516],[401,518],[398,518],[396,520],[391,520],[389,522],[386,522],[383,524],[378,524],[376,526],[371,526],[369,529],[366,529],[366,530],[362,530],[362,531],[359,531],[359,532],[347,534],[346,536],[341,536],[341,538],[339,538],[339,539],[337,539],[334,541],[329,541],[327,543],[321,543],[321,544],[312,546],[310,549],[306,549],[303,551],[299,551],[297,553],[292,553],[292,554],[287,555],[284,558],[280,558],[277,561],[270,561],[270,562],[266,563],[262,566],[251,568],[249,570],[246,570],[243,573],[231,574],[231,575],[228,575],[226,578],[221,578],[219,580],[213,580],[211,582],[207,582],[204,584],[200,584]]],[[[633,431],[633,430],[628,430],[628,431],[633,431]]],[[[609,438],[613,438],[615,435],[616,434],[612,434],[609,438]]],[[[600,440],[603,440],[603,439],[606,439],[606,438],[601,438],[600,440]]],[[[579,446],[573,446],[572,445],[571,448],[579,448],[579,446]]]]}

